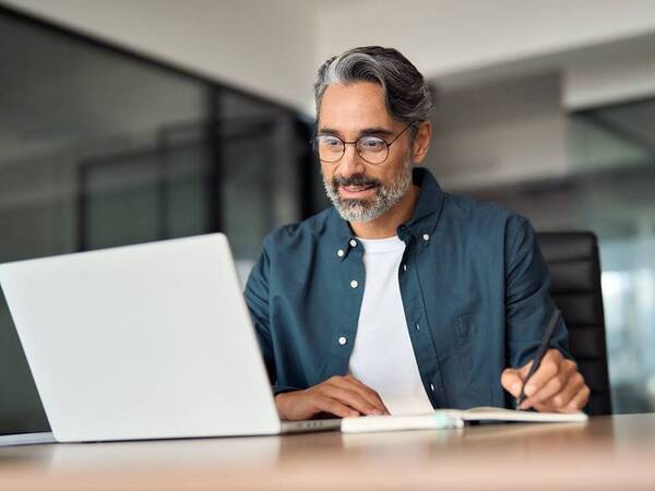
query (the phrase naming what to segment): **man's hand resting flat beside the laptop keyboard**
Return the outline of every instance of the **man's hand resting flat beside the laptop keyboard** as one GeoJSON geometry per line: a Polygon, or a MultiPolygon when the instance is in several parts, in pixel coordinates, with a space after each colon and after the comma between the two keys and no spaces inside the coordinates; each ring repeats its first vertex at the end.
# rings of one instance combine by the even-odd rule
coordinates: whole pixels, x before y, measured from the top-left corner
{"type": "Polygon", "coordinates": [[[321,412],[340,418],[389,415],[378,393],[353,375],[333,376],[305,391],[277,394],[275,405],[282,419],[310,419],[321,412]]]}

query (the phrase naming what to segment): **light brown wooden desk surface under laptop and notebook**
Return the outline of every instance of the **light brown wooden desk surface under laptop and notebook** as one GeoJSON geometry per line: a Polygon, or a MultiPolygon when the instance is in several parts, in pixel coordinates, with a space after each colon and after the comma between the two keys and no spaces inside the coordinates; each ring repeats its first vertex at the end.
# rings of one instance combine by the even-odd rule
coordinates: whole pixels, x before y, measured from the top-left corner
{"type": "Polygon", "coordinates": [[[2,490],[655,489],[655,414],[588,424],[0,448],[2,490]]]}

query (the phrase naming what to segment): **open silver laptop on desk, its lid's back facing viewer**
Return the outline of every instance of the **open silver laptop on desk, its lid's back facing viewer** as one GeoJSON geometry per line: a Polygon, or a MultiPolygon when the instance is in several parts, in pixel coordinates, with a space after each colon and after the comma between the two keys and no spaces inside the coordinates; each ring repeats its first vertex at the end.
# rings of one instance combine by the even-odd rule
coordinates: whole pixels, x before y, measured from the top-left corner
{"type": "Polygon", "coordinates": [[[0,264],[58,442],[338,429],[281,421],[222,233],[0,264]]]}

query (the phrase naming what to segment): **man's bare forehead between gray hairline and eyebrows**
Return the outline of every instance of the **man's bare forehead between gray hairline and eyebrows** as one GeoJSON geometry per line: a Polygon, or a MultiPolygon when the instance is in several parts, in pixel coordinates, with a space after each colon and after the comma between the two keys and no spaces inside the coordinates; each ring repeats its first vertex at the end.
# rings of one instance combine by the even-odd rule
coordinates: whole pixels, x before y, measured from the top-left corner
{"type": "Polygon", "coordinates": [[[357,132],[365,128],[393,125],[380,86],[370,82],[333,84],[323,93],[319,128],[357,132]]]}

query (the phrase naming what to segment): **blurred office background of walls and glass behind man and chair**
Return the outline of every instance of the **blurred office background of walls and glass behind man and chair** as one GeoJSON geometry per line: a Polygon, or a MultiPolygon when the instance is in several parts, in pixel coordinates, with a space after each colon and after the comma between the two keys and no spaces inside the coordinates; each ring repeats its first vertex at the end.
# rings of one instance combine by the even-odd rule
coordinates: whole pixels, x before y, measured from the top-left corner
{"type": "MultiPolygon", "coordinates": [[[[327,205],[312,83],[370,44],[434,87],[443,188],[598,235],[614,410],[655,410],[648,0],[0,0],[0,262],[224,231],[246,277],[327,205]]],[[[0,298],[0,411],[22,357],[0,298]]]]}

